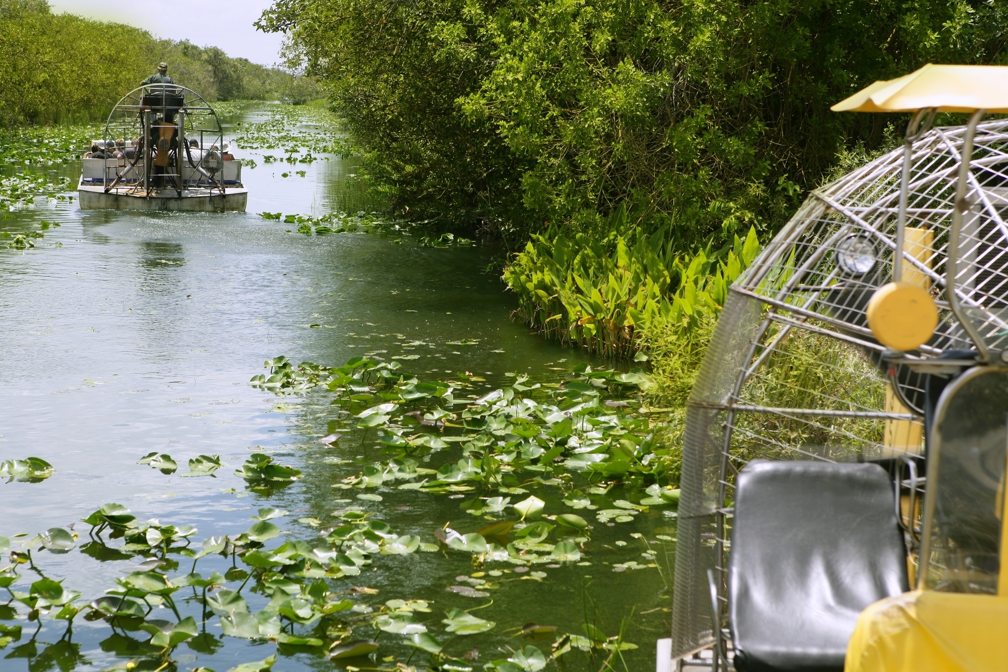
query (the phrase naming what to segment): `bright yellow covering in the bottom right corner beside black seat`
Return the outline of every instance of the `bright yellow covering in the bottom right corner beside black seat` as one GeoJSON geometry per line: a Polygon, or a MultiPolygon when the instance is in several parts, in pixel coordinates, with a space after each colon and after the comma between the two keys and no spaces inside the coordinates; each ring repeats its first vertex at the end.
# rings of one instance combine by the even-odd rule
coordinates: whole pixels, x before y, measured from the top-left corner
{"type": "Polygon", "coordinates": [[[861,612],[844,672],[1004,672],[1008,598],[912,590],[861,612]]]}

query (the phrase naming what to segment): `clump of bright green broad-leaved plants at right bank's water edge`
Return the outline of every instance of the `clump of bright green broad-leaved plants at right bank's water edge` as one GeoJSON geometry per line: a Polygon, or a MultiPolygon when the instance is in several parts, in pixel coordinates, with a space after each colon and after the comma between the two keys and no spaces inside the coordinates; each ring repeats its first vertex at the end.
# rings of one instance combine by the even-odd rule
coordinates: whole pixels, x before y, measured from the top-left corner
{"type": "MultiPolygon", "coordinates": [[[[616,231],[624,228],[614,223],[616,231]]],[[[518,295],[515,317],[548,338],[613,357],[632,357],[659,321],[694,328],[716,314],[728,287],[759,252],[756,230],[716,252],[681,257],[663,231],[598,241],[532,235],[504,271],[518,295]]]]}

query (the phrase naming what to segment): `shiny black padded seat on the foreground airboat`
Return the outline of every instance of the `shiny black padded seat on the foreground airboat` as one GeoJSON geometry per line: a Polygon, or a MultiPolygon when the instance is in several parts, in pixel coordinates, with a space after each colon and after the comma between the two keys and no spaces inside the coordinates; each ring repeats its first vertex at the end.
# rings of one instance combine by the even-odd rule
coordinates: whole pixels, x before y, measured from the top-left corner
{"type": "Polygon", "coordinates": [[[737,670],[842,672],[861,610],[908,590],[893,497],[877,464],[741,471],[728,563],[737,670]]]}

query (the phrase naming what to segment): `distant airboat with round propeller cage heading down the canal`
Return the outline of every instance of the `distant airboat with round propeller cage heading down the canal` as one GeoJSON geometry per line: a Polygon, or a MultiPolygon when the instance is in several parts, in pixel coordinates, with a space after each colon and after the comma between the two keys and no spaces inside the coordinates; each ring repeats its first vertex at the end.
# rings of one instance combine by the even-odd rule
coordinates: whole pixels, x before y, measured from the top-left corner
{"type": "Polygon", "coordinates": [[[92,147],[95,155],[82,159],[82,210],[245,210],[242,162],[195,91],[165,84],[131,91],[92,147]]]}

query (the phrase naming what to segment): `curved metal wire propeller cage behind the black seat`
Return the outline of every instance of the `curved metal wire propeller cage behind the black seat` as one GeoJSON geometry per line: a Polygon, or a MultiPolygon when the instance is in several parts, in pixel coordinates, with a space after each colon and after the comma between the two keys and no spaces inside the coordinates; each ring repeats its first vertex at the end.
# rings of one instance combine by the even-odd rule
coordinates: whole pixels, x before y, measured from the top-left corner
{"type": "Polygon", "coordinates": [[[902,149],[812,192],[731,288],[687,407],[673,657],[714,642],[707,572],[724,585],[742,466],[922,456],[928,376],[973,350],[1008,350],[1008,121],[977,128],[950,264],[966,135],[934,128],[912,148],[902,281],[929,292],[939,315],[918,349],[887,351],[866,315],[892,279],[902,149]],[[950,270],[962,320],[950,307],[950,270]]]}

